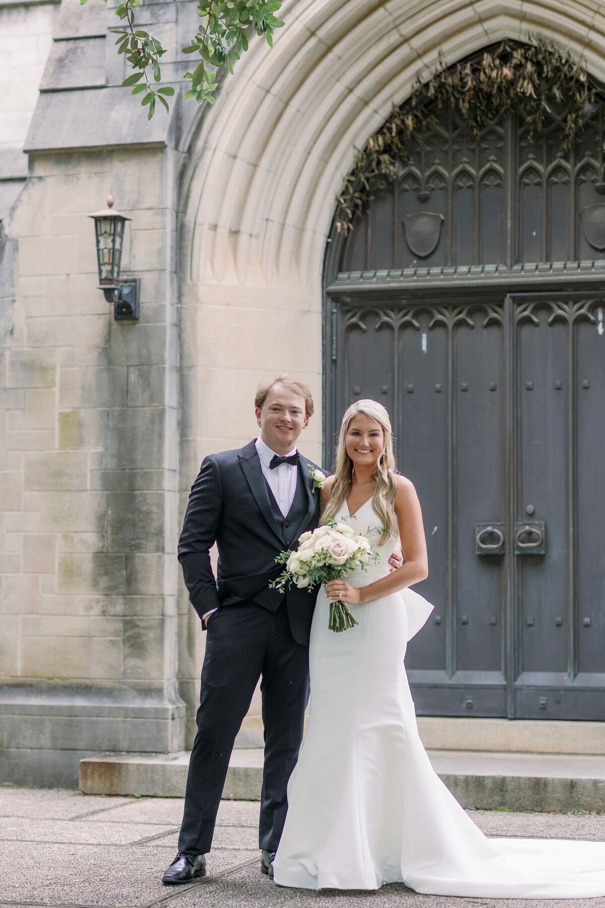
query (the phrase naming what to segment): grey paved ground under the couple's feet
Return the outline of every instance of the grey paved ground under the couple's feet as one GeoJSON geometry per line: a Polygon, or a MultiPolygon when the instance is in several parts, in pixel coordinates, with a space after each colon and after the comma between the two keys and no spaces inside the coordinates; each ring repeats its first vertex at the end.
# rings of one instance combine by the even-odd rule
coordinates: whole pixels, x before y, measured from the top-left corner
{"type": "MultiPolygon", "coordinates": [[[[605,815],[469,811],[488,835],[605,841],[605,815]]],[[[605,908],[605,898],[527,900],[377,893],[312,893],[259,872],[258,802],[223,801],[208,875],[168,887],[182,801],[0,786],[0,905],[7,908],[605,908]]]]}

